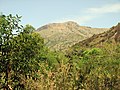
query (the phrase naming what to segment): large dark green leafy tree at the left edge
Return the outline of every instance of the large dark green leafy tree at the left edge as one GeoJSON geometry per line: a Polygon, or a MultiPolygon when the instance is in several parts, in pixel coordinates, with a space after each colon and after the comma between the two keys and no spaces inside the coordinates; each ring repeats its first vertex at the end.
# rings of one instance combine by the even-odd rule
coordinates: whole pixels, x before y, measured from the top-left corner
{"type": "Polygon", "coordinates": [[[16,16],[0,16],[0,74],[3,87],[22,87],[22,78],[34,77],[39,70],[39,61],[45,60],[44,40],[34,28],[19,25],[16,16]],[[18,31],[17,35],[13,31],[18,31]]]}

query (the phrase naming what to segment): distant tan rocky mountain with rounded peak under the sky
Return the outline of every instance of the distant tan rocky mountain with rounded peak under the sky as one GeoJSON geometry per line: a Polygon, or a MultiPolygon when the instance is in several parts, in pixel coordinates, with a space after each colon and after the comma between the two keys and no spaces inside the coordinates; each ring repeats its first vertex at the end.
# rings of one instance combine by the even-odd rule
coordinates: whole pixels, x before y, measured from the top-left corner
{"type": "Polygon", "coordinates": [[[36,30],[44,39],[45,44],[52,50],[65,50],[72,45],[107,31],[108,28],[91,28],[80,26],[76,22],[51,23],[36,30]]]}

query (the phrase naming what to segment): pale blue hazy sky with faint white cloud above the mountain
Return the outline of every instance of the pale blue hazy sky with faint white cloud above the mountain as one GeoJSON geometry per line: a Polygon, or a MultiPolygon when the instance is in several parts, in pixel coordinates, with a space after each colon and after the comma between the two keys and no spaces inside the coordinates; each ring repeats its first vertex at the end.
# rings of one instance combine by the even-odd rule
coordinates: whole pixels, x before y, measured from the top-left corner
{"type": "Polygon", "coordinates": [[[112,27],[120,22],[120,0],[0,0],[0,12],[18,14],[23,25],[35,28],[66,21],[112,27]]]}

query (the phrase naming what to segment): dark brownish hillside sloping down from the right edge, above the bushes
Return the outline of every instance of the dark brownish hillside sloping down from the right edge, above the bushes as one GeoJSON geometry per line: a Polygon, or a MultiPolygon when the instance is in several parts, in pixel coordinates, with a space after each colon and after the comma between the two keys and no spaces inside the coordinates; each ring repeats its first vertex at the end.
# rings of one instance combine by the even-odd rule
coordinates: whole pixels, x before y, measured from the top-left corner
{"type": "Polygon", "coordinates": [[[116,44],[120,42],[120,23],[113,26],[108,31],[101,34],[93,35],[92,37],[76,43],[73,47],[95,47],[104,46],[104,44],[116,44]]]}

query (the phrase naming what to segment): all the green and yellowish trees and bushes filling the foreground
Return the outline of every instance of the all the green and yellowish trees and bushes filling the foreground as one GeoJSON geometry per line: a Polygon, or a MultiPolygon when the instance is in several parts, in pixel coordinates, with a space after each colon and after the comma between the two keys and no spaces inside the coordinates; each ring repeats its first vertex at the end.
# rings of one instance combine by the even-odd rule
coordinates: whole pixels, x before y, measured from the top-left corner
{"type": "Polygon", "coordinates": [[[0,89],[120,89],[119,42],[104,43],[102,47],[79,43],[66,54],[50,51],[43,38],[32,32],[34,28],[20,26],[19,19],[0,16],[0,89]],[[18,34],[14,35],[13,30],[19,30],[18,34]]]}

